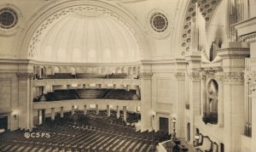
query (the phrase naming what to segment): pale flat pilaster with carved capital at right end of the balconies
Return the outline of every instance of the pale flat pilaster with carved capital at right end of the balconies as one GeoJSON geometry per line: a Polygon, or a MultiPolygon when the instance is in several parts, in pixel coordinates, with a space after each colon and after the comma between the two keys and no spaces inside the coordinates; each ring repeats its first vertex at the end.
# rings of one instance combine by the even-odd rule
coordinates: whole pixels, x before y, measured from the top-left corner
{"type": "MultiPolygon", "coordinates": [[[[145,67],[144,67],[145,68],[145,67]]],[[[152,110],[152,103],[151,103],[151,87],[152,87],[152,76],[153,73],[150,72],[143,72],[141,73],[141,81],[142,81],[142,90],[141,90],[141,101],[142,101],[142,107],[141,107],[141,130],[152,130],[151,125],[151,114],[150,111],[152,110]]]]}

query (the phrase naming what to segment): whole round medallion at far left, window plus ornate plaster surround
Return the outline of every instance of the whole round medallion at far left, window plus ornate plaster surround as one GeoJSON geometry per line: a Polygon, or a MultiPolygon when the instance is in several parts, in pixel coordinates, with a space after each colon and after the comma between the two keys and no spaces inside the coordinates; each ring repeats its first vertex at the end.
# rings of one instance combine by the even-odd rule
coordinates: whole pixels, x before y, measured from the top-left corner
{"type": "Polygon", "coordinates": [[[22,14],[10,3],[0,4],[0,36],[14,35],[20,29],[22,14]]]}

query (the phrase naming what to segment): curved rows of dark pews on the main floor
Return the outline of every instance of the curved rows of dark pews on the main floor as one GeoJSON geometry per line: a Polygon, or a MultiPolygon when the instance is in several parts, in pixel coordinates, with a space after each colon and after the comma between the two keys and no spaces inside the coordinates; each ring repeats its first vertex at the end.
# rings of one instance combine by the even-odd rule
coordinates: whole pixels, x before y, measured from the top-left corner
{"type": "Polygon", "coordinates": [[[163,140],[160,132],[136,132],[135,127],[123,121],[89,110],[88,115],[76,111],[65,113],[55,121],[46,119],[32,132],[49,132],[50,138],[24,138],[24,130],[0,134],[1,151],[134,151],[153,152],[163,140]]]}

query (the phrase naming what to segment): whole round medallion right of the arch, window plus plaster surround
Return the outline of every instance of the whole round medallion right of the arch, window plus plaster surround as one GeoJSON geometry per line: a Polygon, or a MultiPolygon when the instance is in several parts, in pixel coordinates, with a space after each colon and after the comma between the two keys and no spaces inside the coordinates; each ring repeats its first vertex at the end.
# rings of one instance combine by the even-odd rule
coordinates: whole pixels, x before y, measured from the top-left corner
{"type": "Polygon", "coordinates": [[[163,10],[153,9],[146,17],[146,32],[154,38],[165,39],[169,37],[172,25],[170,17],[163,10]]]}

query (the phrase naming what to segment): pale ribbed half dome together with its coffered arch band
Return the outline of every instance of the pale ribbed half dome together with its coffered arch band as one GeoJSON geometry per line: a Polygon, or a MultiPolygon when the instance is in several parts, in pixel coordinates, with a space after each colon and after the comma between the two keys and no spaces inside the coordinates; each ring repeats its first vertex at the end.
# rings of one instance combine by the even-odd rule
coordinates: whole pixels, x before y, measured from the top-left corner
{"type": "Polygon", "coordinates": [[[110,7],[107,3],[96,3],[101,7],[94,5],[93,1],[88,5],[87,1],[79,1],[81,5],[67,2],[61,3],[63,8],[59,7],[61,9],[55,13],[47,14],[43,22],[41,17],[35,20],[37,27],[32,25],[35,30],[29,31],[23,41],[26,44],[30,39],[29,59],[66,63],[129,63],[143,58],[143,50],[148,50],[142,42],[145,39],[126,14],[115,12],[119,11],[116,8],[107,8],[110,7]]]}

